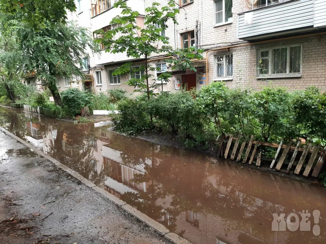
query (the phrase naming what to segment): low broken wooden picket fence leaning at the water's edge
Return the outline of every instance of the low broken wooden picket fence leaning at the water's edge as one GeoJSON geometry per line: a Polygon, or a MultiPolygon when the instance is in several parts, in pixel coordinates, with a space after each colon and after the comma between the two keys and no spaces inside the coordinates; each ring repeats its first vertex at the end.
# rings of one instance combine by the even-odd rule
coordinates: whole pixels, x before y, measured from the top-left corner
{"type": "Polygon", "coordinates": [[[249,137],[244,136],[242,133],[240,133],[238,136],[234,136],[233,134],[226,136],[225,134],[222,134],[220,136],[220,144],[218,147],[217,155],[218,157],[223,156],[225,159],[230,158],[230,160],[236,160],[237,162],[248,162],[249,165],[253,164],[254,160],[256,159],[256,166],[260,166],[262,160],[262,151],[258,150],[259,145],[265,147],[274,147],[277,148],[277,150],[269,166],[269,169],[290,173],[292,166],[296,165],[293,172],[294,174],[299,175],[304,168],[303,175],[309,176],[310,172],[313,169],[311,176],[318,177],[326,159],[326,146],[322,147],[319,144],[312,145],[311,142],[307,142],[304,143],[304,147],[302,147],[302,144],[303,143],[301,140],[296,140],[296,142],[289,140],[286,144],[284,144],[282,140],[280,144],[276,144],[254,141],[254,135],[249,137]],[[239,145],[240,149],[238,150],[239,145]],[[284,150],[281,156],[278,157],[281,149],[284,150]],[[293,152],[292,156],[289,160],[288,166],[286,166],[284,162],[290,156],[291,152],[293,152]],[[299,160],[296,160],[298,158],[297,155],[300,155],[298,152],[302,153],[299,160]],[[242,159],[243,153],[244,158],[242,159]],[[315,163],[316,159],[317,162],[315,163]]]}

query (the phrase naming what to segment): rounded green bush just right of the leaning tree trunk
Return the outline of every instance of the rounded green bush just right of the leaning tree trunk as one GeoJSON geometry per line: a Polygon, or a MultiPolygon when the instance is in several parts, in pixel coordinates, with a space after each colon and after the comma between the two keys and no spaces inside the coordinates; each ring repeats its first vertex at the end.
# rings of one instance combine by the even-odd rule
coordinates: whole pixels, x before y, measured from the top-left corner
{"type": "Polygon", "coordinates": [[[80,114],[81,108],[86,105],[86,95],[76,88],[62,91],[61,99],[67,115],[71,117],[80,114]]]}

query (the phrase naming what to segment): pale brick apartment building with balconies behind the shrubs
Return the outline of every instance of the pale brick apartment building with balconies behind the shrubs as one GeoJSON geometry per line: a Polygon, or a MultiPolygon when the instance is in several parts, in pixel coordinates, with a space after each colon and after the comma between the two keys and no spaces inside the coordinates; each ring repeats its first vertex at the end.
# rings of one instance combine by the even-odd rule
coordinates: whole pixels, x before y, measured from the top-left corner
{"type": "MultiPolygon", "coordinates": [[[[127,0],[126,3],[140,15],[137,25],[142,27],[144,9],[165,0],[127,0]]],[[[115,28],[110,25],[120,10],[112,8],[114,0],[76,1],[77,12],[70,17],[80,25],[98,29],[115,28]]],[[[180,9],[178,24],[166,23],[161,33],[169,37],[173,48],[197,46],[204,49],[203,60],[194,60],[196,72],[173,71],[170,82],[158,88],[176,91],[180,85],[200,89],[214,81],[225,81],[229,87],[260,89],[272,82],[291,90],[316,85],[326,89],[326,3],[324,0],[176,0],[180,9]]],[[[93,34],[96,37],[95,34],[93,34]]],[[[119,33],[117,33],[117,37],[119,33]]],[[[157,43],[162,45],[162,43],[157,43]]],[[[90,53],[84,57],[82,69],[84,83],[69,83],[60,78],[61,90],[68,87],[90,87],[96,93],[122,88],[132,92],[126,81],[141,77],[142,72],[113,75],[114,70],[126,61],[142,65],[142,59],[130,59],[125,53],[101,55],[90,53]],[[82,85],[83,84],[83,85],[82,85]]],[[[149,64],[165,71],[167,57],[152,56],[149,64]]],[[[154,72],[154,71],[153,71],[154,72]]],[[[154,74],[156,77],[157,74],[154,74]]],[[[153,81],[154,82],[154,81],[153,81]]],[[[156,83],[160,81],[156,80],[156,83]]]]}

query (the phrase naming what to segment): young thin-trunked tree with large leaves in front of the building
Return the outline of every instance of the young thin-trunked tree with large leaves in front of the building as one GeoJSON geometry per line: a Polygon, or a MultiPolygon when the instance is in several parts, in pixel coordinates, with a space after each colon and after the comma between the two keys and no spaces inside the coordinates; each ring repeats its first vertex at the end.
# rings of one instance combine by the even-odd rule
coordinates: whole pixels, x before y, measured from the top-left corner
{"type": "MultiPolygon", "coordinates": [[[[139,68],[132,68],[132,63],[128,62],[113,71],[115,75],[141,72],[143,74],[141,78],[134,77],[128,81],[129,85],[135,87],[135,92],[144,92],[147,94],[147,98],[150,99],[152,95],[155,95],[154,90],[160,86],[160,84],[155,83],[154,75],[150,71],[162,70],[148,64],[153,54],[166,55],[166,62],[170,64],[169,67],[172,70],[191,69],[196,71],[190,60],[202,59],[203,57],[200,55],[202,50],[196,47],[173,50],[169,45],[169,38],[161,35],[167,29],[166,23],[169,20],[177,24],[176,14],[179,13],[179,9],[174,8],[174,1],[169,1],[161,9],[158,8],[160,4],[155,2],[151,7],[146,8],[145,27],[143,29],[137,26],[136,22],[139,12],[129,8],[125,1],[120,0],[113,6],[122,9],[121,15],[114,17],[111,21],[111,24],[117,24],[117,27],[106,32],[98,30],[97,33],[101,37],[97,38],[96,42],[107,47],[106,52],[126,52],[128,57],[144,59],[145,65],[141,65],[139,68]],[[118,33],[120,37],[115,38],[118,33]],[[159,47],[158,42],[162,42],[163,45],[159,47]],[[152,79],[152,83],[150,83],[150,79],[152,79]]],[[[170,77],[172,77],[170,72],[162,72],[158,79],[168,81],[170,77]]]]}

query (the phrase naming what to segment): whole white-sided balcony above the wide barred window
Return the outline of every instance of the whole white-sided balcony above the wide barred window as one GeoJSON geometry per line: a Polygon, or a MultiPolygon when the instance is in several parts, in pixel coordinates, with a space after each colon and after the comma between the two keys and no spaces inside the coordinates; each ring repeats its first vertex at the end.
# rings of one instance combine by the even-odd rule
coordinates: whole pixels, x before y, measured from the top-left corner
{"type": "Polygon", "coordinates": [[[326,27],[324,0],[265,0],[265,6],[261,2],[242,8],[245,12],[238,16],[239,39],[255,40],[326,27]]]}

